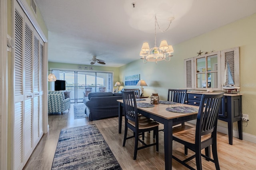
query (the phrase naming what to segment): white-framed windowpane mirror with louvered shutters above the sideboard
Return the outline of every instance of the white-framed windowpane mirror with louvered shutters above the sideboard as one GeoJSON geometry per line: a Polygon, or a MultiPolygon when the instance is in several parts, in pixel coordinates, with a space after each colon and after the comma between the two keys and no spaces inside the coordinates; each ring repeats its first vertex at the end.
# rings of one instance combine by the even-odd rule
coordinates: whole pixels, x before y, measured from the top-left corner
{"type": "Polygon", "coordinates": [[[235,85],[239,86],[239,48],[213,52],[184,60],[187,89],[223,90],[226,63],[232,63],[235,85]]]}

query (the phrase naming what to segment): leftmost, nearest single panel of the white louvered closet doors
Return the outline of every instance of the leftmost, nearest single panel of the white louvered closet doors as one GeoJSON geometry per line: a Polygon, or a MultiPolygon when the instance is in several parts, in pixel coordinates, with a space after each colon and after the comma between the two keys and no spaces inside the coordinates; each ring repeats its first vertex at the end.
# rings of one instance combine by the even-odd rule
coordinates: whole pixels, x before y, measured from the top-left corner
{"type": "Polygon", "coordinates": [[[21,8],[14,11],[14,118],[12,131],[12,169],[19,170],[24,166],[24,14],[21,8]]]}

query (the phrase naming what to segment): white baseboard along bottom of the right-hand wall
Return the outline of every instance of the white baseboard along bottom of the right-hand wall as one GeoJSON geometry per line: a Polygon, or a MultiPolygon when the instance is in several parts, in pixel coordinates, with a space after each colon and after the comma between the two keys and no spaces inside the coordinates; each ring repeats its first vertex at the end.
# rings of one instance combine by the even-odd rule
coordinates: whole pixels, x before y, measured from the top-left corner
{"type": "MultiPolygon", "coordinates": [[[[196,120],[192,120],[192,121],[188,121],[188,122],[192,123],[194,125],[196,124],[196,120]]],[[[220,133],[224,133],[224,134],[228,135],[228,128],[227,127],[218,126],[217,131],[220,132],[220,133]]],[[[238,131],[233,130],[233,137],[239,138],[238,131]]],[[[256,143],[256,136],[250,135],[248,133],[243,133],[243,140],[249,141],[249,142],[252,142],[252,143],[256,143]]]]}

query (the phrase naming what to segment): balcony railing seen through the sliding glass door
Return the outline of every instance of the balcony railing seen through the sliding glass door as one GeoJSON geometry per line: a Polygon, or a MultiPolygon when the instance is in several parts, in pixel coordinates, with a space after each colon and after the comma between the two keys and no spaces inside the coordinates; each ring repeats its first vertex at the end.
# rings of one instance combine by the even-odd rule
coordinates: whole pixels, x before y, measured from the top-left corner
{"type": "Polygon", "coordinates": [[[104,87],[104,86],[77,86],[76,90],[75,90],[75,86],[66,86],[66,91],[71,92],[70,93],[71,102],[74,102],[75,99],[77,99],[79,102],[82,102],[82,100],[84,99],[84,92],[85,92],[84,88],[86,87],[91,87],[92,92],[98,92],[99,87],[104,87]]]}

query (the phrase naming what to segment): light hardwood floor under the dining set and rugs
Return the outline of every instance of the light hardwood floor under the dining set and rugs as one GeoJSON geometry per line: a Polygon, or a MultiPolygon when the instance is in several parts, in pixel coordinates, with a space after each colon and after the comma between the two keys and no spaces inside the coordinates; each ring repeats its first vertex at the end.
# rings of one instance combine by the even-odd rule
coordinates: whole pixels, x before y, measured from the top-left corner
{"type": "MultiPolygon", "coordinates": [[[[44,134],[34,152],[30,156],[24,170],[50,170],[52,160],[58,143],[60,130],[67,127],[76,127],[95,124],[104,139],[108,143],[114,156],[118,160],[123,170],[163,170],[164,169],[164,135],[159,132],[159,152],[155,147],[138,150],[137,160],[133,160],[134,139],[128,139],[126,146],[122,147],[124,137],[124,126],[122,134],[118,133],[118,117],[88,121],[88,118],[74,119],[74,108],[71,105],[70,111],[50,114],[48,116],[50,130],[44,134]]],[[[124,122],[124,120],[123,120],[124,122]]],[[[123,123],[124,124],[124,123],[123,123]]],[[[162,127],[159,127],[162,128],[162,127]]],[[[128,135],[132,135],[128,131],[128,135]]],[[[147,142],[152,141],[153,133],[145,134],[147,142]]],[[[228,144],[228,135],[218,133],[218,158],[220,169],[222,170],[255,170],[256,169],[256,144],[239,140],[234,137],[233,145],[228,144]]],[[[188,151],[189,155],[193,152],[188,151]]],[[[184,146],[173,143],[173,154],[182,158],[184,156],[184,146]]],[[[195,160],[190,161],[190,166],[196,168],[195,160]]],[[[215,169],[212,162],[202,158],[202,166],[205,170],[215,169]]],[[[86,167],[82,168],[86,170],[86,167]]],[[[172,160],[172,169],[186,170],[187,168],[172,160]]]]}

